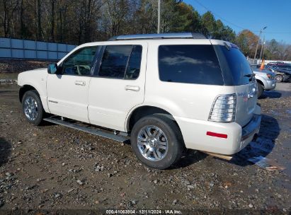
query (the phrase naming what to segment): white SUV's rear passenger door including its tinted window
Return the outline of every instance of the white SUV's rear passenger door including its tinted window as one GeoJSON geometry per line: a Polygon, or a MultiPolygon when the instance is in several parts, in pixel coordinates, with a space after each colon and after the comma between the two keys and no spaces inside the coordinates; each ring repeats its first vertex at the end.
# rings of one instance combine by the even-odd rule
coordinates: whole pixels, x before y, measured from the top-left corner
{"type": "Polygon", "coordinates": [[[144,101],[146,63],[146,42],[103,47],[89,86],[91,124],[125,130],[128,112],[144,101]]]}

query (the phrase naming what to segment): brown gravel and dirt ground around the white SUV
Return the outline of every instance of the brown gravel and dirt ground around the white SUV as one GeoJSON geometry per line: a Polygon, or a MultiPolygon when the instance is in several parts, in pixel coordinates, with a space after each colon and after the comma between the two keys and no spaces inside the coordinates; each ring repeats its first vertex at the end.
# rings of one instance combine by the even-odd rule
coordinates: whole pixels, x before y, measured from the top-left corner
{"type": "MultiPolygon", "coordinates": [[[[25,121],[16,84],[0,85],[0,211],[11,209],[197,209],[289,214],[291,83],[258,102],[258,140],[232,161],[187,151],[169,170],[137,161],[130,145],[55,124],[25,121]],[[248,158],[263,156],[284,170],[248,158]],[[245,210],[243,210],[245,209],[245,210]]],[[[192,212],[191,212],[192,211],[192,212]]]]}

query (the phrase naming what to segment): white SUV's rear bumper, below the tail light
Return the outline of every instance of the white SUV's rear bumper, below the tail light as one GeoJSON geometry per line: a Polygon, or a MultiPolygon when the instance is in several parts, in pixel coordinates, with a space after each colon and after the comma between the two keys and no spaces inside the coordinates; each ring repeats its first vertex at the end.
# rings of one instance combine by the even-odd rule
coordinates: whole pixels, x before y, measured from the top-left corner
{"type": "Polygon", "coordinates": [[[258,134],[261,124],[261,108],[256,106],[256,114],[246,126],[236,122],[220,123],[175,117],[188,149],[232,155],[244,149],[258,134]],[[227,134],[227,138],[208,136],[207,132],[227,134]]]}

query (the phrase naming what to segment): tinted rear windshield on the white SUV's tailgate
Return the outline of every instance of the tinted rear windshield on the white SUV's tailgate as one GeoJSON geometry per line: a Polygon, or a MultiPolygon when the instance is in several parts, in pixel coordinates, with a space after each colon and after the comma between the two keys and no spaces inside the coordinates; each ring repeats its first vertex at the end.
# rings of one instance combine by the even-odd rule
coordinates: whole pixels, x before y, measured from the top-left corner
{"type": "Polygon", "coordinates": [[[238,48],[227,48],[222,45],[214,47],[222,67],[224,85],[244,85],[256,80],[249,62],[238,48]]]}

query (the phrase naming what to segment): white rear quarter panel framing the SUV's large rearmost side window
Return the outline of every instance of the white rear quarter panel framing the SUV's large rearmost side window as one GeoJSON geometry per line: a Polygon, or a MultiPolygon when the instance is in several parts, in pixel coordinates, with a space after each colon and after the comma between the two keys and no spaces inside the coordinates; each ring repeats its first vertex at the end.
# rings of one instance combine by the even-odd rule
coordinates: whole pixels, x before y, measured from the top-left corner
{"type": "MultiPolygon", "coordinates": [[[[207,120],[210,110],[217,95],[236,93],[236,90],[234,86],[214,86],[160,81],[158,49],[159,45],[169,45],[166,44],[166,42],[167,41],[159,41],[159,44],[156,42],[151,42],[149,44],[150,54],[148,54],[147,60],[151,63],[147,64],[147,77],[143,105],[162,108],[171,113],[181,128],[186,147],[191,144],[189,148],[193,149],[192,135],[195,135],[195,129],[201,129],[203,122],[208,122],[207,120]],[[189,132],[188,129],[186,129],[187,123],[184,122],[193,122],[193,126],[191,127],[193,130],[192,132],[189,132]],[[195,122],[199,123],[195,124],[195,122]]],[[[199,42],[199,40],[193,40],[192,42],[189,42],[189,40],[179,40],[178,42],[175,42],[175,44],[179,44],[179,42],[183,45],[187,43],[198,44],[197,42],[199,42]]],[[[204,130],[199,133],[204,134],[204,130]]]]}

